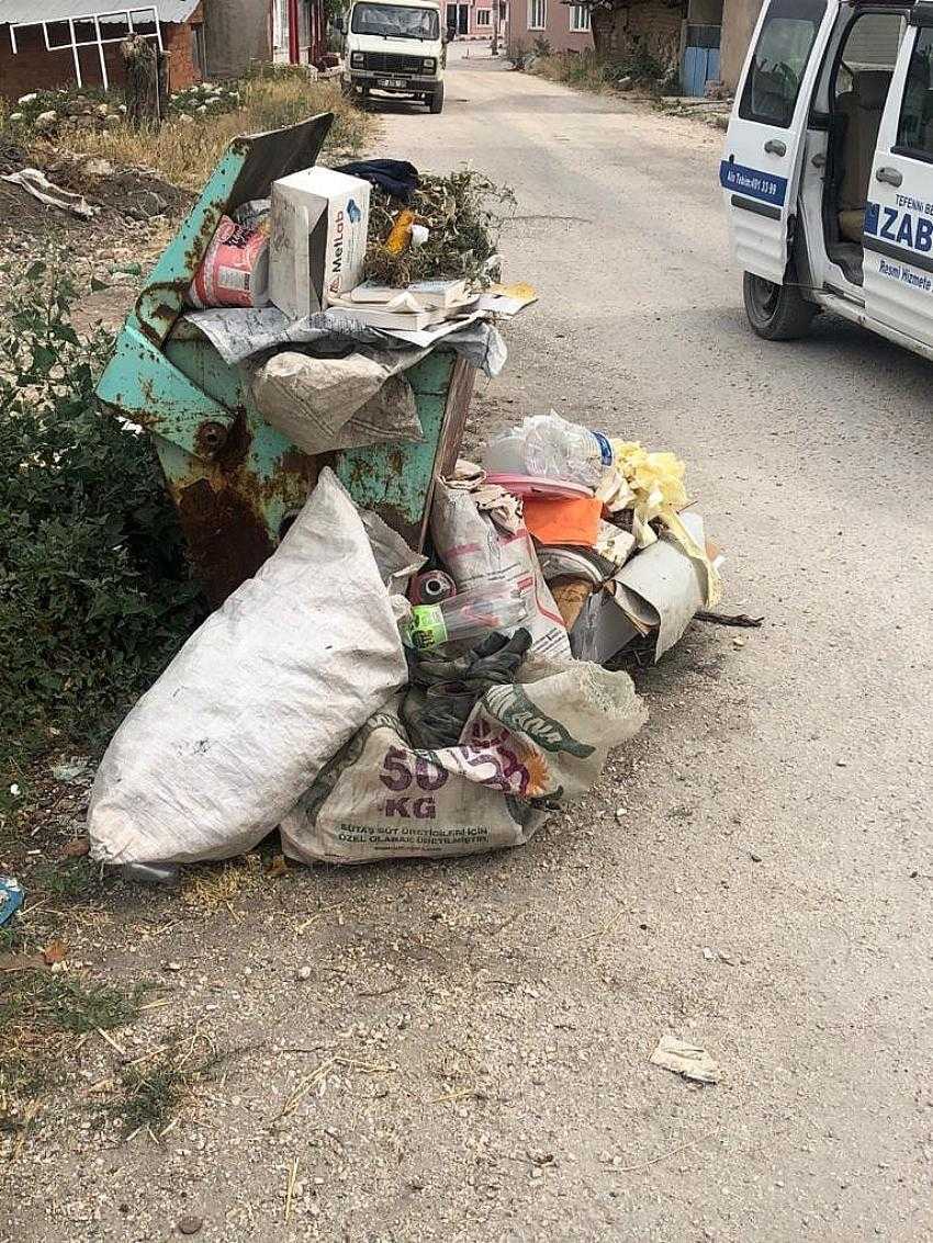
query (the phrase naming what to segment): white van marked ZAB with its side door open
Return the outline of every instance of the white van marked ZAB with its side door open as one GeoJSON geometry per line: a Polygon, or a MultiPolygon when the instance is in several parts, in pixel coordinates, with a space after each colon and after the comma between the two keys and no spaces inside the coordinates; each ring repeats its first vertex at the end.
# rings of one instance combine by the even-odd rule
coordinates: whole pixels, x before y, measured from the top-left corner
{"type": "Polygon", "coordinates": [[[931,0],[768,0],[719,179],[759,336],[826,308],[933,358],[931,0]]]}

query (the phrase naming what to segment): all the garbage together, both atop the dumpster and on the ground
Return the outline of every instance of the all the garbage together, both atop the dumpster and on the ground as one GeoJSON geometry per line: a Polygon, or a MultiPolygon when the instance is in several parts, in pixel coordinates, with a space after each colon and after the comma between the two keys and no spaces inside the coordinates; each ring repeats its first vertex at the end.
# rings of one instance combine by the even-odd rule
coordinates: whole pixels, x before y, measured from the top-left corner
{"type": "MultiPolygon", "coordinates": [[[[672,454],[550,413],[458,460],[453,380],[429,394],[428,438],[404,373],[443,342],[495,374],[491,319],[535,297],[494,283],[469,178],[363,162],[225,205],[185,318],[244,363],[250,420],[336,452],[113,737],[88,809],[96,859],[142,875],[276,829],[306,863],[526,843],[646,720],[628,674],[606,666],[634,640],[659,656],[718,599],[718,554],[672,454]],[[420,522],[393,525],[391,505],[355,498],[341,454],[404,441],[430,457],[420,522]]],[[[352,460],[411,485],[399,447],[352,460]]]]}

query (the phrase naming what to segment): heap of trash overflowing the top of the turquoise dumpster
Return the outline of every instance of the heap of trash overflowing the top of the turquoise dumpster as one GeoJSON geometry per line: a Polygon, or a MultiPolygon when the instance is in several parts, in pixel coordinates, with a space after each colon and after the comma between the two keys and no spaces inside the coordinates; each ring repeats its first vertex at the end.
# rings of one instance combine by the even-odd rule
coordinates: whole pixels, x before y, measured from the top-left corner
{"type": "Polygon", "coordinates": [[[393,159],[279,178],[221,218],[185,318],[249,370],[258,411],[305,452],[418,441],[404,373],[443,346],[499,374],[496,321],[536,298],[496,283],[493,190],[393,159]]]}

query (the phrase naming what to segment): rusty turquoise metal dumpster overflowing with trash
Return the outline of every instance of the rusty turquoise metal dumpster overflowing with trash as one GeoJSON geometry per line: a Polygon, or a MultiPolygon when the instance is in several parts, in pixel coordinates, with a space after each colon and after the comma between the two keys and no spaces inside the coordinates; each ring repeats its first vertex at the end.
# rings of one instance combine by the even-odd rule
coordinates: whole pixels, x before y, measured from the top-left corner
{"type": "Polygon", "coordinates": [[[474,369],[438,349],[406,374],[424,439],[311,457],[255,409],[245,368],[224,362],[184,317],[184,298],[224,213],[267,198],[312,165],[333,117],[236,138],[146,281],[97,387],[98,399],[152,436],[195,572],[220,604],[256,572],[332,465],[358,505],[420,547],[434,479],[457,457],[474,369]]]}

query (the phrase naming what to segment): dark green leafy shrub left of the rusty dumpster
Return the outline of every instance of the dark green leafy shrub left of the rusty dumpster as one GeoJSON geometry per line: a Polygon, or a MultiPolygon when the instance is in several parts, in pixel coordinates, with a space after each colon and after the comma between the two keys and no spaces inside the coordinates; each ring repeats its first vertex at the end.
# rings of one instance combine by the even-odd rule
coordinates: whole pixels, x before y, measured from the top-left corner
{"type": "Polygon", "coordinates": [[[98,411],[60,255],[0,270],[0,757],[96,747],[204,614],[152,445],[98,411]]]}

